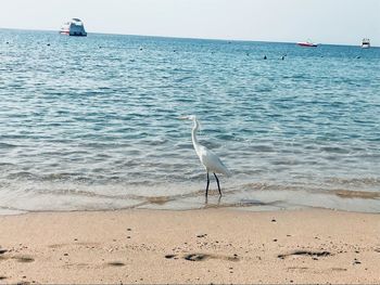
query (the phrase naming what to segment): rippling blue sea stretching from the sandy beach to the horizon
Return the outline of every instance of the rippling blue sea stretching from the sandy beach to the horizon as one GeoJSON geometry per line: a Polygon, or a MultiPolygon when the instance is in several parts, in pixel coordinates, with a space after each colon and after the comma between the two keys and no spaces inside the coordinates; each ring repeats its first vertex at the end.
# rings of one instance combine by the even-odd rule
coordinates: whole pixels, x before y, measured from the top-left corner
{"type": "Polygon", "coordinates": [[[0,213],[208,207],[379,212],[380,49],[0,29],[0,213]]]}

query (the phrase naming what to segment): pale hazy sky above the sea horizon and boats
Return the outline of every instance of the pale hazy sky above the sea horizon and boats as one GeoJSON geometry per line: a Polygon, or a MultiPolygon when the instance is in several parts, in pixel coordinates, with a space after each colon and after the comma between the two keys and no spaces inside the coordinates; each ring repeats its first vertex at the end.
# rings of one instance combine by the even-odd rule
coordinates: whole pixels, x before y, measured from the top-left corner
{"type": "Polygon", "coordinates": [[[0,0],[0,28],[380,47],[380,0],[0,0]]]}

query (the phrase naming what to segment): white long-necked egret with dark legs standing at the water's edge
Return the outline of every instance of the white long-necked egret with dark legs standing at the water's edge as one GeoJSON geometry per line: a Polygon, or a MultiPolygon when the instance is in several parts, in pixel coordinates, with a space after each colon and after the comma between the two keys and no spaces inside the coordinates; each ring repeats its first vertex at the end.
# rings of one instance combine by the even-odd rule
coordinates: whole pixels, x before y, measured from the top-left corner
{"type": "Polygon", "coordinates": [[[192,131],[191,131],[191,139],[192,139],[192,144],[194,146],[195,153],[207,172],[206,198],[207,198],[208,185],[210,185],[208,172],[214,173],[215,179],[216,179],[216,183],[218,185],[219,195],[221,196],[219,180],[218,180],[216,173],[223,173],[223,174],[229,177],[229,176],[231,176],[231,172],[221,163],[221,160],[219,159],[219,157],[216,154],[214,154],[207,147],[205,147],[204,145],[202,145],[198,142],[197,131],[199,129],[199,122],[197,120],[197,116],[191,115],[191,116],[186,116],[186,117],[180,117],[180,118],[192,120],[194,124],[192,127],[192,131]]]}

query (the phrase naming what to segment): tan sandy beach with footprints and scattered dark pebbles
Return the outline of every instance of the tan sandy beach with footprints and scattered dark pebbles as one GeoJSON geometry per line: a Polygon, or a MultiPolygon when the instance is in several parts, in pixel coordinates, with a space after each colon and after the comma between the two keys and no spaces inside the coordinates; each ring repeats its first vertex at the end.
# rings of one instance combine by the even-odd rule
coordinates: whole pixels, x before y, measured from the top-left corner
{"type": "Polygon", "coordinates": [[[380,283],[380,215],[123,210],[0,217],[2,283],[380,283]]]}

